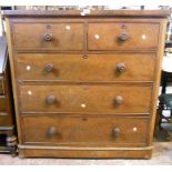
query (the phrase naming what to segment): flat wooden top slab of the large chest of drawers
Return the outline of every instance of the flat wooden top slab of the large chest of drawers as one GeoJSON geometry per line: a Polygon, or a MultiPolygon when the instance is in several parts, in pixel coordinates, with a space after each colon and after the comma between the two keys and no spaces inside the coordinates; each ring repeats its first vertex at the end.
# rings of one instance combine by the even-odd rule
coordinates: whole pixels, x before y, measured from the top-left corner
{"type": "MultiPolygon", "coordinates": [[[[6,10],[3,17],[82,17],[82,10],[6,10]]],[[[90,17],[141,17],[141,18],[166,18],[171,12],[166,10],[92,10],[85,16],[90,17]]],[[[85,17],[83,17],[85,18],[85,17]]]]}

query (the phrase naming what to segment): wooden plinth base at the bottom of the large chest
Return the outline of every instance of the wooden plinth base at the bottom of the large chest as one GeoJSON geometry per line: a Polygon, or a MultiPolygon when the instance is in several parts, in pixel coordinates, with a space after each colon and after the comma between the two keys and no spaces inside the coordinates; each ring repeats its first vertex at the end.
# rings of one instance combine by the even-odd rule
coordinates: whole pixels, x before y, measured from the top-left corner
{"type": "Polygon", "coordinates": [[[152,155],[152,148],[123,148],[120,150],[115,149],[105,149],[105,148],[97,148],[97,149],[75,149],[70,148],[47,148],[47,146],[20,146],[19,153],[21,158],[103,158],[103,159],[119,159],[119,158],[130,158],[130,159],[150,159],[152,155]]]}

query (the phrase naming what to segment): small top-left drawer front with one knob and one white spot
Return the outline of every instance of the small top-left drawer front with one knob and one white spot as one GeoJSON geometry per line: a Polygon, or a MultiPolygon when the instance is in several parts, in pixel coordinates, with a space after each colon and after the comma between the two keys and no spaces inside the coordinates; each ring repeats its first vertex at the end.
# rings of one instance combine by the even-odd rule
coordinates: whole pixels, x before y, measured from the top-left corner
{"type": "Polygon", "coordinates": [[[14,23],[17,50],[83,50],[83,23],[14,23]]]}

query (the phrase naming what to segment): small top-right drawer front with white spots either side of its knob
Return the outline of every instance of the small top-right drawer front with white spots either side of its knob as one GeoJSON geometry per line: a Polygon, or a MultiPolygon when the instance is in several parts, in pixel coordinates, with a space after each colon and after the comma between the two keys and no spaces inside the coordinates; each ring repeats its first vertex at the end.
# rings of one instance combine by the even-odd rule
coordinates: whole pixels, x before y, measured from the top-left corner
{"type": "Polygon", "coordinates": [[[89,50],[155,49],[159,24],[89,23],[89,50]]]}

